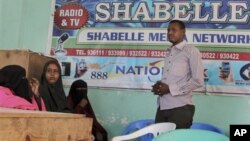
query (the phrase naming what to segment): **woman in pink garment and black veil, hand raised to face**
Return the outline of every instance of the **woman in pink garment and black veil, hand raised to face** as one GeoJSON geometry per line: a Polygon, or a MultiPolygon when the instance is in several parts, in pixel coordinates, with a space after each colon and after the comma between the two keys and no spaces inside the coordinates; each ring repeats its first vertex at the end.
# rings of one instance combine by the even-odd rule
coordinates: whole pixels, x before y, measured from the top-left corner
{"type": "Polygon", "coordinates": [[[0,70],[0,107],[45,111],[39,94],[39,81],[28,82],[26,71],[18,65],[8,65],[0,70]]]}

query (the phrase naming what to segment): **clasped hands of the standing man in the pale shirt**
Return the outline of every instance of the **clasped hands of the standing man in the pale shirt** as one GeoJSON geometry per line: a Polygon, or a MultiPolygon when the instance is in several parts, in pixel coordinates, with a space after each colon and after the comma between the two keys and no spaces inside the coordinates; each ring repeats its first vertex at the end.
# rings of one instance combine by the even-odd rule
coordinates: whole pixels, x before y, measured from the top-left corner
{"type": "Polygon", "coordinates": [[[157,81],[153,86],[152,86],[152,92],[155,95],[164,95],[164,94],[168,94],[170,92],[169,87],[167,84],[161,82],[161,81],[157,81]]]}

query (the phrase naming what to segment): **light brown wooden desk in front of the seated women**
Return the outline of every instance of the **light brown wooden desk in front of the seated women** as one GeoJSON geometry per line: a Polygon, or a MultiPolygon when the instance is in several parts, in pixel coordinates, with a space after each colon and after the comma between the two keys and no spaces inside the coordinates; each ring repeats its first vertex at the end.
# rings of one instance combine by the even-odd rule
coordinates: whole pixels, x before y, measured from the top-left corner
{"type": "Polygon", "coordinates": [[[91,141],[92,118],[0,108],[0,141],[91,141]]]}

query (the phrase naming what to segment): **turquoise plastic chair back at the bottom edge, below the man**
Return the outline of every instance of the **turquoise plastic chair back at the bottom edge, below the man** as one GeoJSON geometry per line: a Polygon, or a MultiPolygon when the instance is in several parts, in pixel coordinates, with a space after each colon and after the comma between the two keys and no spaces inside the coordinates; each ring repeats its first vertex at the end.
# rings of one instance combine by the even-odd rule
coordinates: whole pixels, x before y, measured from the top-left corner
{"type": "Polygon", "coordinates": [[[157,136],[153,141],[229,141],[229,138],[208,130],[176,129],[157,136]]]}

